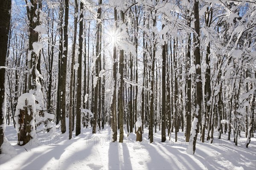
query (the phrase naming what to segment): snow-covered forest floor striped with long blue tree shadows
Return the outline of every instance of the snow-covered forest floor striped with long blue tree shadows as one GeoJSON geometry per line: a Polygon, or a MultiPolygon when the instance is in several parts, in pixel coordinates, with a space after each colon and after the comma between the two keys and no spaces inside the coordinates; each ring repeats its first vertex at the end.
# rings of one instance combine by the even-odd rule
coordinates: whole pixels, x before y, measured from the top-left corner
{"type": "Polygon", "coordinates": [[[52,139],[47,133],[41,132],[34,141],[18,146],[15,128],[13,125],[7,125],[6,137],[16,153],[10,149],[9,155],[0,155],[0,170],[256,168],[256,138],[252,138],[249,148],[246,148],[244,133],[241,133],[238,146],[227,140],[227,134],[222,134],[221,139],[217,139],[215,132],[213,144],[200,143],[199,135],[195,155],[192,156],[186,153],[187,143],[183,132],[178,132],[177,142],[174,133],[171,140],[161,142],[161,131],[157,129],[154,142],[150,144],[146,127],[143,142],[134,142],[136,135],[131,133],[121,144],[110,142],[110,130],[111,128],[106,126],[101,133],[93,135],[91,127],[82,128],[79,136],[75,136],[74,130],[73,139],[68,140],[68,132],[61,134],[59,128],[52,139]]]}

